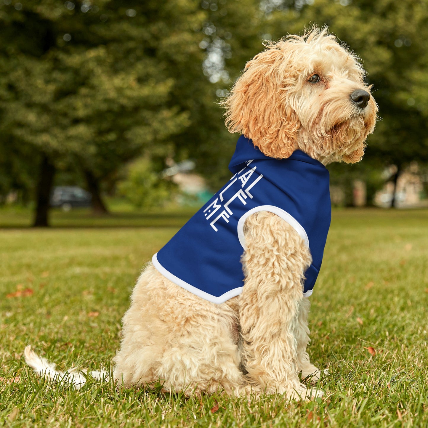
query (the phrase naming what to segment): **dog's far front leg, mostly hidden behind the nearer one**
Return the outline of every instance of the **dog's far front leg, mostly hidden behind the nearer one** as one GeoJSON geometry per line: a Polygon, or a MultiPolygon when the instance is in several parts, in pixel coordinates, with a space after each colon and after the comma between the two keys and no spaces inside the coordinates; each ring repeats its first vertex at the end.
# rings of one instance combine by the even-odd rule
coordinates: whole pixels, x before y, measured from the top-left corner
{"type": "Polygon", "coordinates": [[[297,341],[297,370],[302,372],[302,379],[308,378],[312,382],[316,382],[321,375],[319,369],[317,369],[309,361],[309,355],[306,352],[309,339],[309,327],[308,327],[308,315],[311,303],[307,297],[299,303],[299,311],[297,314],[297,322],[294,328],[294,336],[297,341]]]}

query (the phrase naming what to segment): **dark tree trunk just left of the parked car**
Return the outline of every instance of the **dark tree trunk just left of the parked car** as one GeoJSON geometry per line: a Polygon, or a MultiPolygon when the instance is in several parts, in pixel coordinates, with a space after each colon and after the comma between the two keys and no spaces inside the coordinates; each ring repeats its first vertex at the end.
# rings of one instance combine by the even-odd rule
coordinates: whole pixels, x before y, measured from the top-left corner
{"type": "Polygon", "coordinates": [[[48,227],[49,197],[51,196],[55,166],[46,155],[43,155],[40,165],[39,181],[36,189],[36,216],[34,227],[48,227]]]}

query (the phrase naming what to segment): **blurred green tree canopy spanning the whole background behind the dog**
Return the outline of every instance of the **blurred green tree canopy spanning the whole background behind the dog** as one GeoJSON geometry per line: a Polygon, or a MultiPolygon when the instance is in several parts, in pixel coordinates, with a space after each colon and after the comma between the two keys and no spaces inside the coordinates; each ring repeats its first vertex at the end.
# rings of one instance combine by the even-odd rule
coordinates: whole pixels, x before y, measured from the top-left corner
{"type": "MultiPolygon", "coordinates": [[[[48,224],[57,170],[100,186],[141,155],[194,158],[217,187],[236,136],[217,101],[261,39],[327,24],[363,58],[382,120],[349,182],[428,162],[428,0],[0,0],[0,196],[36,200],[48,224]]],[[[373,182],[378,180],[378,176],[373,182]]]]}

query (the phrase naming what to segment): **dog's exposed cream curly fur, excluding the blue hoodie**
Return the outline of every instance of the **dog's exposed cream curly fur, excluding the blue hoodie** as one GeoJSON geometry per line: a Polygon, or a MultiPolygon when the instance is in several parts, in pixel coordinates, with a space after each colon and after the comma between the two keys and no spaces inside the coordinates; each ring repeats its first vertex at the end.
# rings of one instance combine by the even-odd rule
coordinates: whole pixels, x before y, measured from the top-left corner
{"type": "MultiPolygon", "coordinates": [[[[358,59],[327,30],[288,36],[247,63],[223,103],[226,124],[272,158],[300,149],[324,165],[358,162],[377,113],[363,76],[358,59]]],[[[113,373],[119,384],[160,380],[166,391],[195,395],[322,395],[298,376],[320,375],[306,352],[309,249],[294,227],[267,211],[247,218],[244,235],[244,288],[225,303],[197,297],[146,266],[123,318],[113,373]]],[[[52,369],[30,347],[26,359],[39,373],[52,369]]]]}

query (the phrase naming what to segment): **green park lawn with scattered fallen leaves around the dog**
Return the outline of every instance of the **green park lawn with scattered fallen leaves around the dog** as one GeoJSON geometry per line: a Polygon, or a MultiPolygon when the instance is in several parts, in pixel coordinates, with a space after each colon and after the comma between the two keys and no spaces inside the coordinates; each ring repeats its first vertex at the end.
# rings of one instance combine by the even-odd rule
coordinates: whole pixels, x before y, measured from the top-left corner
{"type": "Polygon", "coordinates": [[[59,369],[108,369],[142,266],[189,214],[0,230],[0,426],[428,426],[427,210],[333,211],[310,298],[322,399],[187,399],[93,379],[75,391],[26,368],[32,344],[59,369]]]}

